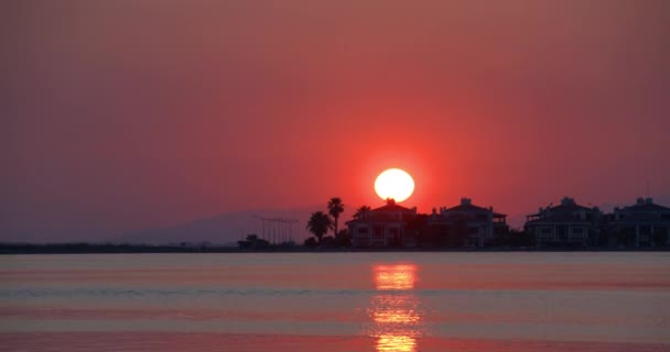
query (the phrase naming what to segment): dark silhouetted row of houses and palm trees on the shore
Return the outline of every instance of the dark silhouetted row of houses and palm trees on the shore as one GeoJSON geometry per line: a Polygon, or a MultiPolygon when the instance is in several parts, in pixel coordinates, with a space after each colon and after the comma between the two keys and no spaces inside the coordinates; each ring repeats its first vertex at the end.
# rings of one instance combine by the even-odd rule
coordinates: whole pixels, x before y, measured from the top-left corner
{"type": "MultiPolygon", "coordinates": [[[[527,216],[522,230],[514,230],[505,213],[462,198],[452,207],[420,213],[417,208],[387,199],[379,208],[363,206],[337,230],[342,200],[333,198],[328,211],[312,213],[307,229],[314,234],[307,248],[354,249],[662,249],[670,245],[670,208],[652,198],[603,212],[565,197],[559,205],[540,207],[527,216]],[[333,206],[335,202],[335,206],[333,206]],[[333,230],[334,235],[325,235],[333,230]]],[[[240,246],[249,248],[240,241],[240,246]]]]}

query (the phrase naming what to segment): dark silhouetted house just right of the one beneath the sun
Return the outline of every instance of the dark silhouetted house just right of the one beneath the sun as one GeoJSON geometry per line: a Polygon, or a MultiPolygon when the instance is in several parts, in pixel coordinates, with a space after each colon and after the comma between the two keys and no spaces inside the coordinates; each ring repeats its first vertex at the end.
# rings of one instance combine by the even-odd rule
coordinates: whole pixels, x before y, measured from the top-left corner
{"type": "Polygon", "coordinates": [[[428,243],[446,246],[484,246],[509,232],[506,215],[475,206],[469,198],[461,198],[452,208],[441,207],[439,213],[433,209],[428,228],[428,243]]]}

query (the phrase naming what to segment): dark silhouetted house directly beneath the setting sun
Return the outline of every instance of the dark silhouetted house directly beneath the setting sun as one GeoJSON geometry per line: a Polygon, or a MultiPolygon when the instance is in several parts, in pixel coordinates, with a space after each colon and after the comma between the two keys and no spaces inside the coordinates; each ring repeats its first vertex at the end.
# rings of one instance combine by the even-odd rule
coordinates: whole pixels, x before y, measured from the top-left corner
{"type": "Polygon", "coordinates": [[[411,248],[417,245],[417,237],[408,230],[408,224],[415,218],[415,207],[406,208],[389,199],[386,206],[371,209],[345,224],[356,248],[411,248]]]}

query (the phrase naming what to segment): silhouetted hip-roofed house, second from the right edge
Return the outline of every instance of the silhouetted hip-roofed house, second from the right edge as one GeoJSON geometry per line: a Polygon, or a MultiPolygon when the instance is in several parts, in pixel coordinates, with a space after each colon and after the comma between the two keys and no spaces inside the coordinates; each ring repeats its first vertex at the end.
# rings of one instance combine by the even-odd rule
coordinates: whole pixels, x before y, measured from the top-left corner
{"type": "Polygon", "coordinates": [[[603,213],[597,207],[583,207],[565,197],[560,206],[550,205],[527,216],[526,231],[534,235],[538,246],[586,246],[597,242],[602,221],[603,213]]]}

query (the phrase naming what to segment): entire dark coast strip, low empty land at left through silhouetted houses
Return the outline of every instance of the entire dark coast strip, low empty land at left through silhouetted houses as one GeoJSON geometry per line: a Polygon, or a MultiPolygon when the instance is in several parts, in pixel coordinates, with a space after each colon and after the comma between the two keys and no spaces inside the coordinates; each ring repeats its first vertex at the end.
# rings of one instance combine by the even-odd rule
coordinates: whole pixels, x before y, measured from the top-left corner
{"type": "MultiPolygon", "coordinates": [[[[311,237],[295,241],[294,219],[266,219],[268,233],[247,234],[236,245],[212,242],[148,243],[0,243],[0,254],[21,253],[230,253],[312,251],[668,251],[670,208],[637,198],[610,212],[564,197],[539,207],[520,229],[493,206],[461,198],[454,206],[419,212],[389,198],[378,208],[360,206],[341,223],[345,205],[333,197],[324,211],[311,213],[311,237]],[[277,221],[281,222],[278,223],[277,221]],[[273,224],[270,227],[270,224],[273,224]],[[342,228],[341,228],[342,227],[342,228]]],[[[186,238],[186,237],[185,237],[186,238]]]]}

